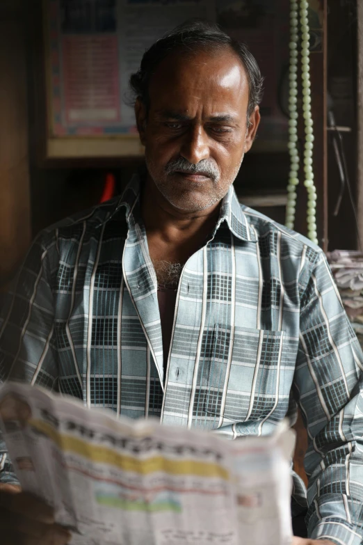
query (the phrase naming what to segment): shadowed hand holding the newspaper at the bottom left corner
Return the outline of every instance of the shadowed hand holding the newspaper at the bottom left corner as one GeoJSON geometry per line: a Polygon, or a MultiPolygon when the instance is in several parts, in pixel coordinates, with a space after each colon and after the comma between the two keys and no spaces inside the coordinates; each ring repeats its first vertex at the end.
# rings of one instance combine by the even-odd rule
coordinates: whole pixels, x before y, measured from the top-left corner
{"type": "Polygon", "coordinates": [[[69,532],[54,524],[51,507],[13,484],[0,484],[1,545],[65,545],[69,532]]]}

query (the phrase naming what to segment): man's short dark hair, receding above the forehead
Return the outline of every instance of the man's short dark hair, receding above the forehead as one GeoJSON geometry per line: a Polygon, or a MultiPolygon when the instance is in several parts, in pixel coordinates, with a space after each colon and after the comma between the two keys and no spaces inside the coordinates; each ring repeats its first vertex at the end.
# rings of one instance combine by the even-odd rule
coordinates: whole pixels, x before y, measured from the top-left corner
{"type": "Polygon", "coordinates": [[[264,78],[259,65],[248,47],[222,31],[218,25],[193,19],[163,35],[143,55],[140,68],[130,77],[130,87],[134,97],[139,97],[146,109],[150,106],[149,84],[152,74],[168,54],[177,51],[193,53],[198,49],[232,49],[239,57],[248,77],[248,110],[250,117],[255,106],[261,102],[264,78]]]}

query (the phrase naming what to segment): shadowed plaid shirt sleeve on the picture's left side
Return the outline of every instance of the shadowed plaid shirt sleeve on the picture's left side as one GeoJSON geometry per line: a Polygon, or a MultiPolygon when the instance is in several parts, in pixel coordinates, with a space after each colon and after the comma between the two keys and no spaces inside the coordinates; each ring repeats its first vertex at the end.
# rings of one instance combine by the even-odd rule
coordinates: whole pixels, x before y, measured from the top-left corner
{"type": "MultiPolygon", "coordinates": [[[[54,243],[55,245],[55,243],[54,243]]],[[[58,378],[49,251],[33,242],[0,306],[0,384],[6,380],[53,389],[58,378]]],[[[0,482],[17,483],[0,432],[0,482]]]]}

